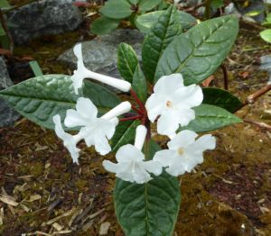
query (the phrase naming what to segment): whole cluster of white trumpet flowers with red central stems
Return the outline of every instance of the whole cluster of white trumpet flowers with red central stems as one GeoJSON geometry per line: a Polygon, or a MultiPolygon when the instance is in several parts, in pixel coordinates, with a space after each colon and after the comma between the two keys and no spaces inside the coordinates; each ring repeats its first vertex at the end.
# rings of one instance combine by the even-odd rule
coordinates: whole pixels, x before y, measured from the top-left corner
{"type": "MultiPolygon", "coordinates": [[[[81,44],[75,46],[74,54],[78,59],[78,69],[71,77],[75,94],[79,94],[79,89],[83,86],[83,79],[86,77],[114,86],[123,92],[130,91],[132,95],[135,94],[133,90],[130,90],[130,83],[100,75],[86,68],[81,44]]],[[[198,134],[195,132],[189,130],[178,132],[180,126],[186,126],[195,119],[192,108],[200,105],[202,100],[201,87],[197,85],[184,86],[181,74],[161,77],[156,82],[154,93],[150,95],[145,105],[139,104],[142,109],[134,108],[140,113],[134,117],[144,117],[142,118],[143,124],[145,124],[146,116],[152,123],[157,120],[157,132],[167,135],[171,140],[167,144],[168,150],[157,151],[154,154],[154,159],[146,161],[142,148],[147,130],[144,125],[139,125],[136,128],[135,144],[126,144],[120,147],[116,154],[117,163],[104,160],[104,168],[116,173],[117,177],[137,184],[151,180],[152,174],[159,176],[163,172],[163,168],[174,177],[191,172],[192,168],[202,163],[203,151],[213,150],[216,146],[215,138],[210,134],[203,135],[196,140],[198,134]]],[[[79,149],[76,145],[81,140],[84,140],[88,147],[94,146],[101,155],[106,155],[111,150],[108,141],[113,137],[119,122],[117,116],[129,112],[131,108],[133,106],[130,103],[123,102],[98,117],[98,109],[95,104],[89,98],[79,97],[76,109],[68,110],[64,119],[66,127],[79,127],[79,132],[76,135],[64,132],[60,115],[53,117],[55,132],[63,140],[76,163],[79,158],[79,149]]]]}

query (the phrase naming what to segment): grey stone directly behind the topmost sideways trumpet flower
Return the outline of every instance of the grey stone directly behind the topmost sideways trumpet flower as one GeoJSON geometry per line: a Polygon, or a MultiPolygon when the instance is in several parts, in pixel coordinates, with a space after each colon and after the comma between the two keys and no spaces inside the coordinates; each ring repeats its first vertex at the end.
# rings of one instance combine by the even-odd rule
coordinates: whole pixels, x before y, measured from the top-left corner
{"type": "MultiPolygon", "coordinates": [[[[110,77],[120,78],[117,71],[117,45],[121,42],[130,44],[141,59],[141,43],[144,35],[137,30],[119,29],[110,34],[102,35],[93,41],[82,42],[84,63],[87,68],[110,77]]],[[[73,47],[65,51],[59,61],[68,64],[70,68],[77,67],[77,59],[73,47]]]]}

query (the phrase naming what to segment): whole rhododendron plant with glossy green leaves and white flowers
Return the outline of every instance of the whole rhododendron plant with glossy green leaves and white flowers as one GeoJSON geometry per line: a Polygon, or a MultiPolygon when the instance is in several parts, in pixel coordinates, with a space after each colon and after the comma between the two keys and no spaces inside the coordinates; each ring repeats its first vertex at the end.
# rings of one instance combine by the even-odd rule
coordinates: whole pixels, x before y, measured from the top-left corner
{"type": "Polygon", "coordinates": [[[178,176],[191,172],[202,163],[203,152],[216,146],[214,136],[199,133],[241,122],[231,113],[241,104],[237,97],[201,88],[227,57],[237,34],[238,20],[230,15],[182,32],[172,5],[145,35],[141,60],[130,45],[118,46],[122,78],[86,68],[77,44],[78,68],[72,76],[33,77],[0,96],[29,120],[54,129],[78,165],[79,141],[94,146],[97,155],[116,152],[116,160],[114,155],[99,158],[117,177],[113,195],[123,231],[128,236],[171,236],[181,203],[178,176]],[[120,99],[112,92],[116,89],[103,84],[126,95],[120,99]],[[156,142],[157,133],[168,149],[156,142]]]}

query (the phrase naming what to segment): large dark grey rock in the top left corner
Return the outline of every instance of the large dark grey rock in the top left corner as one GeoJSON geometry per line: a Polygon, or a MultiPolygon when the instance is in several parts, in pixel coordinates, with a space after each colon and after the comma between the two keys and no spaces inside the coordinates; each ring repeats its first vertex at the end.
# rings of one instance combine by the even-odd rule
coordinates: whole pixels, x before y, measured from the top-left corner
{"type": "Polygon", "coordinates": [[[7,14],[9,30],[18,45],[43,35],[70,32],[82,23],[79,9],[70,0],[41,0],[7,14]]]}

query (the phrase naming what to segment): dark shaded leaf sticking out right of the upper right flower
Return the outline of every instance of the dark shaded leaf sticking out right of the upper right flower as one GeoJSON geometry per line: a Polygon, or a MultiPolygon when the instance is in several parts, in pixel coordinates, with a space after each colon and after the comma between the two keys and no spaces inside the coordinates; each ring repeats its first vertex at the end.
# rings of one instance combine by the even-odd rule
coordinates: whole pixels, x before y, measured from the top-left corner
{"type": "Polygon", "coordinates": [[[202,88],[204,99],[202,104],[213,104],[226,109],[230,113],[234,113],[242,105],[242,102],[235,95],[230,94],[228,91],[213,88],[202,88]]]}

